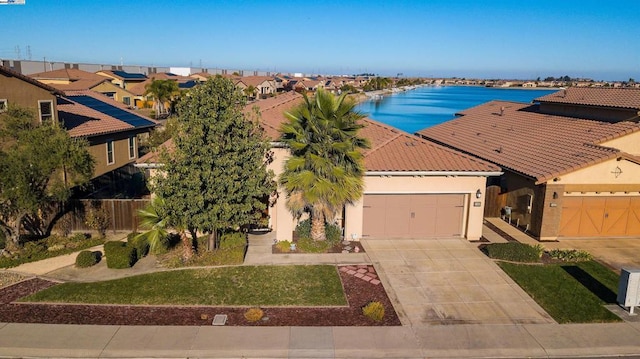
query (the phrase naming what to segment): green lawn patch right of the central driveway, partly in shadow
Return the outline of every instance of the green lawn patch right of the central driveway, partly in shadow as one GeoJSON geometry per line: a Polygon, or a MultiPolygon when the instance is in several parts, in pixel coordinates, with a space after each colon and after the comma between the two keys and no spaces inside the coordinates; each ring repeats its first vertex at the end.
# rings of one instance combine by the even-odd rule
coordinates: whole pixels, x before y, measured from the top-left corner
{"type": "Polygon", "coordinates": [[[498,265],[558,323],[621,320],[604,307],[616,303],[618,275],[595,261],[498,265]]]}

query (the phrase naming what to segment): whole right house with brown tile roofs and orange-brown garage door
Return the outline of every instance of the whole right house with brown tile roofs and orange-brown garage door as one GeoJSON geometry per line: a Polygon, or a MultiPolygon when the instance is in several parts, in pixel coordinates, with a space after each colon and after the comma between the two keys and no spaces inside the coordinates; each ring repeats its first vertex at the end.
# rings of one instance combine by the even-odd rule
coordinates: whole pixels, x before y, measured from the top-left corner
{"type": "Polygon", "coordinates": [[[418,135],[500,166],[502,214],[540,240],[640,236],[640,90],[534,101],[492,101],[418,135]]]}

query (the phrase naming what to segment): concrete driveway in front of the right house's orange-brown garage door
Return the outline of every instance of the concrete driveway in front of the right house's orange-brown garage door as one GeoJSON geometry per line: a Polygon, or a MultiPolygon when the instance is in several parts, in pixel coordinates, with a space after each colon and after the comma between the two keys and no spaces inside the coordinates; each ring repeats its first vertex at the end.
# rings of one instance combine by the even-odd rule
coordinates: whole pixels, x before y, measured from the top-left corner
{"type": "Polygon", "coordinates": [[[542,243],[547,249],[587,251],[618,273],[621,268],[640,268],[640,238],[560,239],[542,243]]]}

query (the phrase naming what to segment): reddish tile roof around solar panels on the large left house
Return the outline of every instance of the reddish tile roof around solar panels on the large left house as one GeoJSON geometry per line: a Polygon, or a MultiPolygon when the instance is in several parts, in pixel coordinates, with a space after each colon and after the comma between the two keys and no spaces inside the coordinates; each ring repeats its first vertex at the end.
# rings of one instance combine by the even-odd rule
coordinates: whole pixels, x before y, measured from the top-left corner
{"type": "MultiPolygon", "coordinates": [[[[63,121],[65,128],[72,137],[96,136],[120,131],[129,131],[136,128],[106,113],[75,102],[73,100],[74,96],[90,96],[111,106],[118,107],[124,111],[139,116],[135,112],[130,111],[123,104],[113,101],[102,94],[98,94],[93,91],[69,91],[67,92],[66,97],[59,99],[57,108],[59,119],[63,121]]],[[[142,118],[142,116],[140,117],[142,118]]],[[[156,123],[155,121],[147,118],[143,119],[154,124],[156,123]]]]}

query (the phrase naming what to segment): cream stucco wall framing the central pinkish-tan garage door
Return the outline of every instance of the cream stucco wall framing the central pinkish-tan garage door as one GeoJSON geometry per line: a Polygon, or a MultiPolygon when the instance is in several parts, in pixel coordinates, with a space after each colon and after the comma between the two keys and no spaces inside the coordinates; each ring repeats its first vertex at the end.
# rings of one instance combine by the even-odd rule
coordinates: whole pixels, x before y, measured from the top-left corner
{"type": "MultiPolygon", "coordinates": [[[[482,236],[484,214],[484,189],[486,177],[418,177],[418,176],[366,176],[365,194],[374,193],[462,193],[465,196],[463,235],[468,240],[478,240],[482,236]],[[476,198],[477,190],[482,192],[476,198]],[[479,207],[474,207],[479,202],[479,207]]],[[[362,199],[348,205],[345,214],[345,236],[359,239],[363,224],[362,199]]]]}

